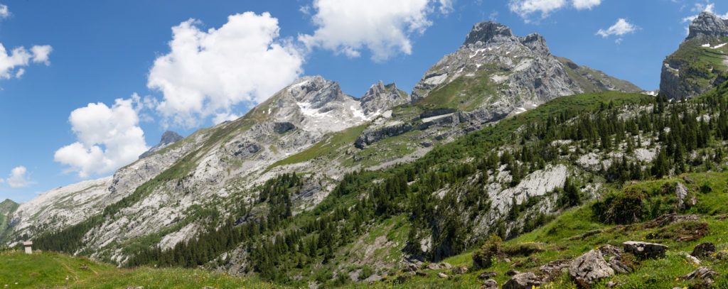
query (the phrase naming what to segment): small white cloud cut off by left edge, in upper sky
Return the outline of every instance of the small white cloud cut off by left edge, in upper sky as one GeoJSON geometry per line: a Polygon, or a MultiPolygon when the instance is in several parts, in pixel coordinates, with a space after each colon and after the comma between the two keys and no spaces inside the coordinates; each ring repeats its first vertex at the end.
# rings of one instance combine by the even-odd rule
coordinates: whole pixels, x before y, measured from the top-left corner
{"type": "Polygon", "coordinates": [[[25,47],[15,47],[8,53],[3,44],[0,44],[0,79],[20,77],[25,73],[25,70],[21,67],[28,66],[31,61],[49,65],[48,55],[52,50],[50,45],[35,45],[31,47],[30,51],[26,50],[25,47]]]}

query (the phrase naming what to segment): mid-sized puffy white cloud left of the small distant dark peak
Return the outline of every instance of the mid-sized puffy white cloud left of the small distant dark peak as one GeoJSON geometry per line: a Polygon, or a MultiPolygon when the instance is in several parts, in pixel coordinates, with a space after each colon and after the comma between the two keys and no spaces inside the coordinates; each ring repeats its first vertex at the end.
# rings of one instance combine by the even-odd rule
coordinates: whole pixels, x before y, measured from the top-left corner
{"type": "Polygon", "coordinates": [[[138,96],[116,99],[114,106],[89,103],[68,117],[78,141],[55,151],[54,159],[68,165],[68,171],[87,178],[110,173],[138,159],[149,149],[138,126],[138,96]]]}

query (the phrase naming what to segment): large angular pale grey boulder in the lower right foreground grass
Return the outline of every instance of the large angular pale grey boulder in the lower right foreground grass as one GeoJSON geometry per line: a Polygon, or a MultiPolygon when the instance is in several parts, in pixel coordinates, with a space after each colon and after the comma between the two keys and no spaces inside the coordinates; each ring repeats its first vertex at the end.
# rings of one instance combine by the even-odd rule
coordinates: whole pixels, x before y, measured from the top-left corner
{"type": "Polygon", "coordinates": [[[600,250],[590,250],[571,262],[569,274],[577,284],[589,288],[594,281],[613,276],[614,269],[604,261],[600,250]]]}

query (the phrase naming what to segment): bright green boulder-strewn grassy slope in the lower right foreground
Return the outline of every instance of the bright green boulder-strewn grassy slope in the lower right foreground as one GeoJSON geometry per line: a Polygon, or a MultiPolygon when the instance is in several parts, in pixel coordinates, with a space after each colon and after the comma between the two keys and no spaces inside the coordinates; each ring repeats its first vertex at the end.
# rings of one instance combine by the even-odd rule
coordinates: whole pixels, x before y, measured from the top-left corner
{"type": "MultiPolygon", "coordinates": [[[[645,223],[636,223],[629,226],[614,226],[601,223],[596,220],[593,210],[593,204],[583,205],[563,213],[554,221],[548,223],[541,228],[528,234],[504,242],[504,248],[517,248],[523,245],[531,245],[534,242],[544,242],[545,251],[535,253],[529,256],[512,257],[513,262],[521,261],[521,266],[509,266],[505,262],[495,263],[488,269],[470,270],[467,274],[454,277],[453,280],[438,278],[435,275],[438,272],[445,272],[451,275],[449,270],[423,270],[430,273],[428,277],[414,277],[412,280],[403,284],[393,284],[391,278],[389,281],[379,282],[379,285],[392,286],[392,288],[475,288],[482,281],[477,279],[478,274],[485,271],[498,272],[498,276],[494,279],[499,284],[504,284],[510,277],[505,275],[510,269],[516,269],[520,272],[534,272],[541,274],[538,267],[549,261],[557,259],[573,259],[582,253],[598,248],[600,245],[611,244],[621,247],[621,243],[629,240],[638,240],[644,242],[657,242],[670,246],[665,258],[648,259],[641,261],[636,266],[636,272],[632,274],[618,274],[612,278],[601,280],[596,283],[593,288],[604,288],[604,284],[609,280],[615,280],[622,283],[620,288],[683,288],[689,287],[692,282],[684,280],[676,280],[697,268],[697,265],[691,264],[686,258],[679,255],[678,252],[691,252],[695,245],[701,242],[713,242],[719,251],[728,251],[728,219],[721,220],[728,213],[728,207],[724,204],[728,202],[727,182],[728,173],[695,173],[689,174],[689,178],[695,181],[695,184],[686,184],[691,194],[696,194],[698,205],[692,207],[686,212],[697,213],[701,216],[700,221],[691,221],[685,223],[677,223],[664,227],[646,228],[645,223]],[[699,187],[704,183],[709,183],[713,190],[710,193],[700,193],[699,187]],[[676,242],[676,237],[684,235],[681,230],[684,224],[688,226],[705,222],[708,223],[708,234],[705,237],[689,242],[676,242]],[[602,230],[601,233],[595,234],[584,239],[571,240],[571,237],[584,234],[587,231],[602,230]],[[657,235],[657,236],[654,236],[657,235]],[[535,257],[535,258],[534,258],[535,257]],[[534,262],[535,261],[535,262],[534,262]]],[[[633,187],[648,191],[651,197],[658,195],[665,184],[683,182],[681,178],[662,179],[657,181],[644,181],[633,184],[633,187]]],[[[462,253],[458,256],[447,258],[444,262],[448,262],[454,266],[472,266],[472,251],[462,253]]],[[[728,288],[728,260],[710,260],[703,258],[700,266],[711,266],[713,270],[719,272],[719,276],[713,278],[716,281],[716,288],[728,288]]],[[[575,288],[575,284],[571,282],[568,274],[554,280],[553,284],[548,288],[575,288]]],[[[352,287],[360,287],[352,285],[352,287]]]]}

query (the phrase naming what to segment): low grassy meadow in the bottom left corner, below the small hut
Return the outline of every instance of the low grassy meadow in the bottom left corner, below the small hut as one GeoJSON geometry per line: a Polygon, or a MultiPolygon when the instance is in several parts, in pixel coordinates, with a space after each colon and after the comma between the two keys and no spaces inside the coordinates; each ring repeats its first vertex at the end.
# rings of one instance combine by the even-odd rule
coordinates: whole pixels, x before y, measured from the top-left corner
{"type": "Polygon", "coordinates": [[[26,255],[4,251],[0,252],[0,260],[0,286],[7,288],[64,288],[67,276],[68,288],[285,288],[197,269],[118,269],[87,258],[49,252],[26,255]]]}

